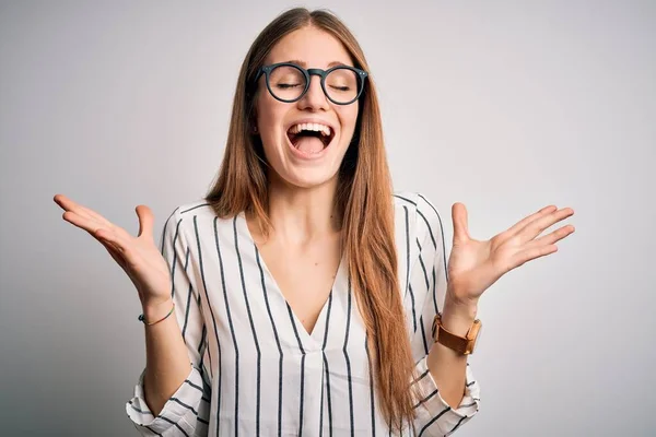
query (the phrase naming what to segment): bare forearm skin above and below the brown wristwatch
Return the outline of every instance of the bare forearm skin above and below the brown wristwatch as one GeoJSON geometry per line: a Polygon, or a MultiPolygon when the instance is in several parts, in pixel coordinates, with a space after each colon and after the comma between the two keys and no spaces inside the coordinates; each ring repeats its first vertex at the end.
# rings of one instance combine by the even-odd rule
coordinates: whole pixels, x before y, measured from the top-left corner
{"type": "MultiPolygon", "coordinates": [[[[459,303],[449,297],[442,311],[442,323],[449,332],[465,336],[476,319],[477,305],[459,303]]],[[[459,354],[440,343],[433,343],[427,357],[431,376],[440,389],[442,398],[452,406],[457,408],[465,394],[467,355],[459,354]]]]}

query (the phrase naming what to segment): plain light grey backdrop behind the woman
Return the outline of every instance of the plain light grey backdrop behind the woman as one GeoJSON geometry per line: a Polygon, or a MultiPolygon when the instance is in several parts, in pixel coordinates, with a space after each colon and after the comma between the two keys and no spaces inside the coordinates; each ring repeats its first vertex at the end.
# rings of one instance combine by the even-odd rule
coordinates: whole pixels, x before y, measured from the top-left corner
{"type": "MultiPolygon", "coordinates": [[[[576,232],[480,302],[466,436],[656,428],[656,2],[382,1],[335,11],[371,63],[395,189],[487,239],[553,203],[576,232]]],[[[243,58],[286,1],[0,3],[0,434],[127,436],[134,288],[61,218],[137,233],[200,199],[243,58]]]]}

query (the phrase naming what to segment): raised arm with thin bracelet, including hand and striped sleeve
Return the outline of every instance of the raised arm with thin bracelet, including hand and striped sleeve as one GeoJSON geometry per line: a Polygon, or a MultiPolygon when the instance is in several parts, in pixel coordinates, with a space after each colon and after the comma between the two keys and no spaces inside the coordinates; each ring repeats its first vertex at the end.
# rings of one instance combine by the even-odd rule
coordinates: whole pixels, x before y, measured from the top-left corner
{"type": "Polygon", "coordinates": [[[142,435],[202,435],[203,426],[207,434],[211,381],[201,364],[204,329],[187,275],[189,248],[179,233],[177,210],[164,226],[160,249],[153,239],[154,218],[145,205],[137,206],[139,234],[134,237],[66,196],[57,194],[54,200],[65,210],[63,220],[97,239],[137,288],[143,308],[147,367],[134,397],[126,403],[128,416],[142,435]]]}

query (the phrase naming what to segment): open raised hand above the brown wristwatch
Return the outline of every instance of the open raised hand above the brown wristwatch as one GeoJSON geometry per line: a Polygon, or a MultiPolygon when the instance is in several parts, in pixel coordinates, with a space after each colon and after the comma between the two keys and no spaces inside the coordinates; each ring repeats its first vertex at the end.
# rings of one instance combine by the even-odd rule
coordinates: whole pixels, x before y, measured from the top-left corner
{"type": "Polygon", "coordinates": [[[447,267],[447,298],[476,307],[483,292],[502,275],[527,261],[555,252],[555,243],[572,234],[574,226],[562,226],[536,237],[573,214],[571,208],[546,206],[493,238],[479,241],[469,235],[467,209],[462,203],[455,203],[452,206],[454,244],[447,267]]]}

